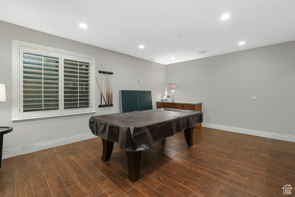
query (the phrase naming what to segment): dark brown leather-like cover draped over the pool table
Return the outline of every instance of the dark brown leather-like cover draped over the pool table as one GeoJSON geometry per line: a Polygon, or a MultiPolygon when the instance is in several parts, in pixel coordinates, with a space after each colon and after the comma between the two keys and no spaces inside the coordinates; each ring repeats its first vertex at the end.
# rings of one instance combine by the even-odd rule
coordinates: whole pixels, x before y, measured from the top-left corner
{"type": "Polygon", "coordinates": [[[161,108],[92,116],[89,128],[94,135],[119,143],[122,150],[142,151],[201,122],[201,111],[161,108]]]}

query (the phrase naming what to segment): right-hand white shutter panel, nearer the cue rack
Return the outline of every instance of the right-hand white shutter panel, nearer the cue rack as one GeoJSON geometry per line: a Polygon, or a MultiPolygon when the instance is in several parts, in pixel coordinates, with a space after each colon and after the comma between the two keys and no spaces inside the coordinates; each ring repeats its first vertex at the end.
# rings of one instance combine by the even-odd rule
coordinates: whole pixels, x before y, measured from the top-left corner
{"type": "Polygon", "coordinates": [[[63,55],[63,113],[91,111],[91,59],[63,55]]]}

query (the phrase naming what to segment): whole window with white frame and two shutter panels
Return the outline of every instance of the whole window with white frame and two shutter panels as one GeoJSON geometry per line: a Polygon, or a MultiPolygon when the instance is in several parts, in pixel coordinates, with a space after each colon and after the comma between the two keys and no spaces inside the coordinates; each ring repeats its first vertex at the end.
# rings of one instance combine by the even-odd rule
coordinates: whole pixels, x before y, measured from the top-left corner
{"type": "Polygon", "coordinates": [[[95,113],[94,56],[13,44],[12,121],[95,113]]]}

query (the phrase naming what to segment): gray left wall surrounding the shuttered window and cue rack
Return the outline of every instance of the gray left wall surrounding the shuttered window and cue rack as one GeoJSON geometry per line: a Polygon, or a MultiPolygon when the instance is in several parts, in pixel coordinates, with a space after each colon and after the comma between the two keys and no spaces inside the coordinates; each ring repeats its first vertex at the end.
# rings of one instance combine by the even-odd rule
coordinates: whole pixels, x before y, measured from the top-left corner
{"type": "MultiPolygon", "coordinates": [[[[91,133],[88,127],[89,117],[119,113],[119,90],[151,90],[153,106],[160,100],[165,85],[165,66],[148,60],[135,58],[122,53],[87,45],[73,40],[28,29],[0,21],[0,84],[6,84],[6,102],[0,102],[0,126],[13,126],[12,133],[4,135],[3,150],[29,146],[47,141],[91,133]],[[64,118],[26,121],[13,123],[12,118],[12,39],[23,40],[40,45],[94,55],[96,72],[99,65],[114,72],[114,107],[98,108],[99,88],[96,86],[96,114],[77,115],[64,118]],[[142,79],[142,83],[137,80],[142,79]]],[[[99,38],[98,38],[99,39],[99,38]]],[[[135,46],[136,47],[136,46],[135,46]]],[[[98,72],[96,73],[98,76],[98,72]]],[[[42,148],[41,148],[42,149],[42,148]]]]}

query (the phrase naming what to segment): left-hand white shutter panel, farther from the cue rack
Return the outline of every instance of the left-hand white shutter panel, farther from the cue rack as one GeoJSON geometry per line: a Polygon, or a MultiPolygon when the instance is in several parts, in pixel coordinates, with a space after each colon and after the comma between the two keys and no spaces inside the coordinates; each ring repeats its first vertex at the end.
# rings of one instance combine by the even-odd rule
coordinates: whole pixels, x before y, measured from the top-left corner
{"type": "Polygon", "coordinates": [[[55,115],[60,108],[60,53],[20,47],[21,117],[55,115]]]}

